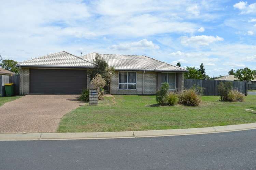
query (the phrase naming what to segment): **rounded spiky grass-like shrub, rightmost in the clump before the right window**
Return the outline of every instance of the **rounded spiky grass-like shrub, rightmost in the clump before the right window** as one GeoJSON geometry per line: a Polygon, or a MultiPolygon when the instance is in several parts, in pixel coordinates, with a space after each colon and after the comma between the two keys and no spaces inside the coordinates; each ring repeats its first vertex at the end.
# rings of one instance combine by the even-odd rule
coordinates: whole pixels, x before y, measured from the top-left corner
{"type": "Polygon", "coordinates": [[[186,106],[199,106],[201,99],[195,90],[184,90],[179,95],[179,103],[186,106]]]}

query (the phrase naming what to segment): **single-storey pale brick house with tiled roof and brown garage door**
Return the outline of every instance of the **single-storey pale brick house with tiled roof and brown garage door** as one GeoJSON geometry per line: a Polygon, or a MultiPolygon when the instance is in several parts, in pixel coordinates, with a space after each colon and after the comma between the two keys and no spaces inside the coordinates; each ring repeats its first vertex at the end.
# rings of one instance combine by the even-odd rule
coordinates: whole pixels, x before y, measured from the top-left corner
{"type": "MultiPolygon", "coordinates": [[[[20,94],[80,94],[93,88],[87,75],[97,53],[81,57],[62,51],[19,62],[20,94]]],[[[155,94],[162,82],[183,91],[186,69],[143,55],[99,54],[115,68],[106,90],[110,94],[155,94]]]]}

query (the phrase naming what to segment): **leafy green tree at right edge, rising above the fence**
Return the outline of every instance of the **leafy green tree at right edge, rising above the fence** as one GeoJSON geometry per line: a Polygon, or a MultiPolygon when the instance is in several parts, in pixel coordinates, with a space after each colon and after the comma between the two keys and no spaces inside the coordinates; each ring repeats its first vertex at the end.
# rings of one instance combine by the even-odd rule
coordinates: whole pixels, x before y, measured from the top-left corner
{"type": "Polygon", "coordinates": [[[248,67],[244,69],[238,69],[235,73],[235,78],[238,79],[238,81],[251,81],[256,77],[256,73],[253,70],[250,70],[248,67]]]}

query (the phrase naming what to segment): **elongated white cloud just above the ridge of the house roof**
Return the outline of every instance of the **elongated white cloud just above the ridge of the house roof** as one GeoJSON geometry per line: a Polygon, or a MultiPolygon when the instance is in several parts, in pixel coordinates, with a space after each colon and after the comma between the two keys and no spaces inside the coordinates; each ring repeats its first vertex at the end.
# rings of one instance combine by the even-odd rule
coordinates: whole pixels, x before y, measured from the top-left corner
{"type": "Polygon", "coordinates": [[[158,45],[155,45],[152,41],[142,39],[137,42],[122,43],[118,45],[112,45],[110,49],[113,50],[136,50],[136,49],[159,49],[158,45]]]}

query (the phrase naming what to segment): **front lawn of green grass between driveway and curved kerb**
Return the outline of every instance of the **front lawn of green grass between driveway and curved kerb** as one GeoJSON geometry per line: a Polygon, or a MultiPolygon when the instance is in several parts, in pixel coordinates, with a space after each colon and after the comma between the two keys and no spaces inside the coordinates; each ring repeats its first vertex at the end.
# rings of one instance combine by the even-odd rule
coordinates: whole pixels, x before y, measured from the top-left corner
{"type": "Polygon", "coordinates": [[[58,132],[109,132],[199,128],[256,122],[256,95],[244,102],[222,102],[202,96],[198,107],[158,106],[155,96],[115,95],[98,106],[81,106],[66,114],[58,132]],[[252,109],[254,111],[245,111],[252,109]]]}

